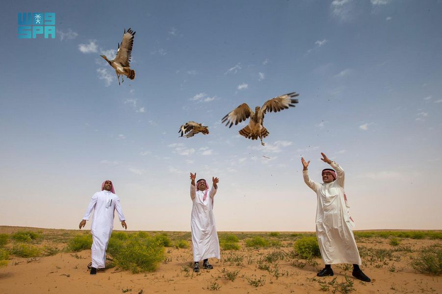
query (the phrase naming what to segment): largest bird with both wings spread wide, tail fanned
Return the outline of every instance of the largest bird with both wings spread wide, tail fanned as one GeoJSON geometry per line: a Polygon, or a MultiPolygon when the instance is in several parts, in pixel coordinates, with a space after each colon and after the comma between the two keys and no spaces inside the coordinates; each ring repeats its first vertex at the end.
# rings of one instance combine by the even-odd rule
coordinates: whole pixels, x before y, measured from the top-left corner
{"type": "Polygon", "coordinates": [[[267,111],[269,112],[278,112],[283,109],[287,109],[289,106],[295,107],[295,103],[298,103],[298,99],[294,99],[293,97],[297,97],[299,94],[296,92],[288,93],[285,95],[281,95],[270,100],[267,100],[262,107],[255,107],[255,112],[250,109],[249,105],[246,103],[242,103],[234,110],[229,112],[223,119],[222,123],[226,123],[226,126],[229,125],[229,128],[232,127],[233,124],[241,123],[250,117],[249,124],[246,125],[239,131],[239,134],[246,137],[247,139],[257,140],[260,138],[261,145],[264,146],[264,142],[262,142],[262,138],[268,136],[269,132],[262,125],[264,122],[264,115],[267,111]]]}

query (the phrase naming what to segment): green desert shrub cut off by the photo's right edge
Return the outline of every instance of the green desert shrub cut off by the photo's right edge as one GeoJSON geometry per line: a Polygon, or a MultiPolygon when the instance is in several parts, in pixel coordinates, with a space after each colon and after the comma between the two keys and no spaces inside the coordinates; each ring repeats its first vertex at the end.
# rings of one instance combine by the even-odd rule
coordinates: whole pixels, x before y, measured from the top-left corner
{"type": "Polygon", "coordinates": [[[433,246],[422,249],[411,262],[411,266],[420,273],[440,275],[442,273],[442,247],[433,246]]]}

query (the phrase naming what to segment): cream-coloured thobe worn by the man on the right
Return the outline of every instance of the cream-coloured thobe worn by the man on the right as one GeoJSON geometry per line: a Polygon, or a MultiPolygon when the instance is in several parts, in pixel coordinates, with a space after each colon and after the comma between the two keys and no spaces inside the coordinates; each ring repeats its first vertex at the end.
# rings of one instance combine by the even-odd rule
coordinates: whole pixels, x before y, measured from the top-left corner
{"type": "Polygon", "coordinates": [[[331,183],[316,183],[303,171],[307,186],[316,192],[316,236],[324,264],[351,263],[361,265],[358,247],[353,236],[354,222],[344,192],[344,171],[330,163],[338,178],[331,183]]]}

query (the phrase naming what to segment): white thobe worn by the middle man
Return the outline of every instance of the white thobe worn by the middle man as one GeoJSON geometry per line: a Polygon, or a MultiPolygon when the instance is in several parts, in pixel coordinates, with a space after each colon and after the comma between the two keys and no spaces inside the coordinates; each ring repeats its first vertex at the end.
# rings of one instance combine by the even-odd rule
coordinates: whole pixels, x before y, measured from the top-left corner
{"type": "Polygon", "coordinates": [[[193,201],[190,227],[192,229],[193,261],[216,257],[220,259],[219,240],[213,216],[213,196],[216,189],[212,186],[206,200],[205,191],[196,191],[190,185],[190,197],[193,201]]]}

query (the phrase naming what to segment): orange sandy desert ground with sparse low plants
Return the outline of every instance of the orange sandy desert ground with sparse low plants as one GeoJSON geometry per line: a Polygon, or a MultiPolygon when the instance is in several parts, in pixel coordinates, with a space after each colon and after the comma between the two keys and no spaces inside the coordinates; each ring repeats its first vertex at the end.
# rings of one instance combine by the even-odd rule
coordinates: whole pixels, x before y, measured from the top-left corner
{"type": "MultiPolygon", "coordinates": [[[[316,272],[323,267],[321,259],[315,258],[305,264],[296,258],[293,243],[299,236],[291,232],[229,232],[239,238],[241,249],[222,250],[221,260],[210,259],[213,270],[202,269],[194,273],[191,248],[165,247],[164,261],[155,272],[133,274],[113,267],[93,276],[87,269],[90,250],[63,251],[69,238],[80,233],[78,230],[0,226],[0,234],[20,230],[35,231],[44,236],[34,242],[35,246],[49,246],[60,251],[32,258],[11,254],[8,265],[0,267],[1,294],[442,293],[441,276],[418,273],[410,265],[422,248],[441,246],[440,239],[398,238],[400,244],[393,246],[390,245],[391,238],[357,237],[363,260],[361,268],[372,279],[371,283],[364,283],[354,279],[351,266],[346,265],[334,265],[333,277],[316,277],[316,272]],[[274,240],[274,246],[247,247],[245,240],[252,236],[274,240]]],[[[171,240],[190,242],[189,232],[166,233],[171,240]]],[[[11,240],[5,248],[13,244],[11,240]]]]}

